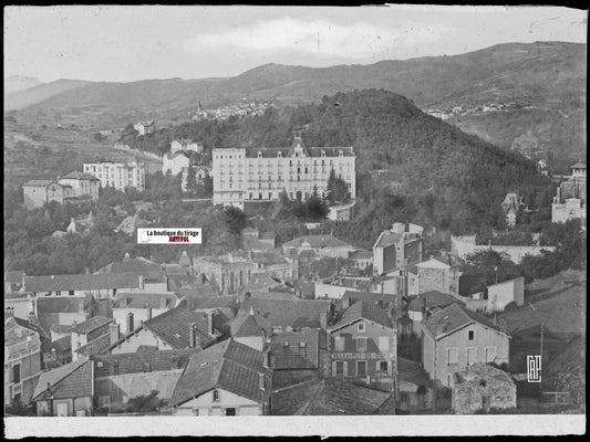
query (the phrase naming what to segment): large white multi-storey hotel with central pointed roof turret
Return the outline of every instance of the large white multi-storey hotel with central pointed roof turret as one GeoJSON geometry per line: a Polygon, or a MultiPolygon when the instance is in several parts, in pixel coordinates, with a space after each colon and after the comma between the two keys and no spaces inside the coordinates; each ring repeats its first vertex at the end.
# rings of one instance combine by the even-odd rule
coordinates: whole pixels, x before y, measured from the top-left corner
{"type": "Polygon", "coordinates": [[[290,148],[213,150],[213,202],[244,209],[245,201],[271,201],[287,192],[309,198],[314,187],[323,196],[330,170],[356,196],[356,157],[352,147],[306,147],[296,137],[290,148]]]}

